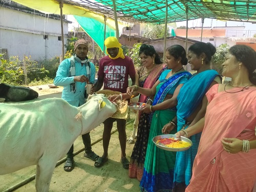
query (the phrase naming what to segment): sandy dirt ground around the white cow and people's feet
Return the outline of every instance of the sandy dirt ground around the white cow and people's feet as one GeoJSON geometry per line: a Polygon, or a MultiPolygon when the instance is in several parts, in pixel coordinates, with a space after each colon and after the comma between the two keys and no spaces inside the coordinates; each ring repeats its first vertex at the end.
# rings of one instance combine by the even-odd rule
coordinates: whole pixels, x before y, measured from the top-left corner
{"type": "MultiPolygon", "coordinates": [[[[30,87],[37,91],[39,97],[35,100],[41,100],[50,97],[61,97],[62,87],[49,88],[45,86],[30,87]],[[40,89],[41,88],[41,89],[40,89]]],[[[30,101],[32,102],[32,101],[30,101]]],[[[133,120],[135,114],[131,113],[131,119],[128,120],[126,125],[127,138],[130,137],[133,130],[133,120]]],[[[116,124],[114,123],[113,130],[116,130],[116,124]]],[[[102,132],[103,124],[96,127],[91,132],[92,149],[101,156],[103,154],[102,147],[102,132]]],[[[134,144],[126,145],[126,156],[130,159],[134,144]]],[[[96,168],[94,161],[83,157],[83,144],[82,139],[79,136],[74,143],[74,151],[77,155],[74,157],[75,168],[72,172],[68,173],[63,170],[63,163],[58,165],[53,173],[50,192],[125,192],[125,191],[140,191],[139,181],[137,179],[131,179],[128,177],[128,170],[124,169],[120,163],[120,144],[118,139],[118,132],[114,132],[111,136],[109,146],[109,161],[102,167],[96,168]],[[81,153],[79,153],[82,151],[81,153]]],[[[65,156],[63,156],[65,158],[65,156]]],[[[14,191],[12,188],[17,183],[23,182],[25,179],[33,178],[35,174],[35,165],[18,170],[15,173],[0,176],[0,191],[14,191]],[[9,189],[10,190],[9,190],[9,189]]],[[[15,191],[35,191],[35,180],[15,189],[15,191]]]]}

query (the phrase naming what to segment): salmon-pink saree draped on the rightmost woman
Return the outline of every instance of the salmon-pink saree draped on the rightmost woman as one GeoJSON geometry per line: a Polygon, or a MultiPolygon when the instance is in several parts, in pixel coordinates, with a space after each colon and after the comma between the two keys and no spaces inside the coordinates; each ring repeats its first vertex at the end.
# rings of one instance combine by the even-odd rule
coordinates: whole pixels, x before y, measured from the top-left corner
{"type": "Polygon", "coordinates": [[[205,126],[186,191],[251,192],[256,181],[256,150],[229,154],[223,150],[221,139],[256,139],[256,88],[218,93],[216,84],[206,95],[205,126]],[[247,132],[241,133],[244,130],[247,132]]]}

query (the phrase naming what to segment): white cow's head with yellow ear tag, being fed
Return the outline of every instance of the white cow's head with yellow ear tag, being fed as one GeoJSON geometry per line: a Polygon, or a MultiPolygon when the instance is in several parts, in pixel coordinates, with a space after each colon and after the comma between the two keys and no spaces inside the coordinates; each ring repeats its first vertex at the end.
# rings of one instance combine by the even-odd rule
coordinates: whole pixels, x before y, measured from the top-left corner
{"type": "Polygon", "coordinates": [[[81,112],[82,133],[86,134],[103,123],[117,111],[117,104],[112,103],[104,94],[89,95],[87,102],[78,107],[81,112]]]}

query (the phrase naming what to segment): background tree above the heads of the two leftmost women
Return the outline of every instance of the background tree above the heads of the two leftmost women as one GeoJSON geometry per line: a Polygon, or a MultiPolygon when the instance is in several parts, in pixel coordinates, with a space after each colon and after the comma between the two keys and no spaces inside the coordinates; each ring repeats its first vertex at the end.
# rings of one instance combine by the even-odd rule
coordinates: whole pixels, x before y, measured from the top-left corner
{"type": "MultiPolygon", "coordinates": [[[[170,30],[167,28],[167,37],[170,36],[170,30]]],[[[143,33],[143,37],[150,39],[159,39],[164,37],[164,25],[162,24],[147,24],[143,33]]]]}

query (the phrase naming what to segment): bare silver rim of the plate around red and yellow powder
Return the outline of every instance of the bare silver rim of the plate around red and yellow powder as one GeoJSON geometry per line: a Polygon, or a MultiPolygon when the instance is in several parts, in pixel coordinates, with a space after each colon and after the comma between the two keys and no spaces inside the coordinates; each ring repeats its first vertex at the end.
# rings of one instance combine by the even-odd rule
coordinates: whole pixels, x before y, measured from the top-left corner
{"type": "Polygon", "coordinates": [[[181,147],[181,148],[172,148],[172,147],[167,147],[165,145],[162,145],[161,143],[157,143],[157,140],[159,139],[164,139],[164,138],[174,138],[176,139],[176,135],[172,135],[172,134],[166,134],[166,135],[158,135],[156,137],[154,137],[152,139],[152,141],[155,143],[155,145],[159,148],[161,148],[162,150],[166,150],[166,151],[171,151],[171,152],[181,152],[181,151],[185,151],[185,150],[188,150],[192,145],[192,141],[186,137],[180,137],[182,141],[186,141],[188,142],[190,145],[188,147],[181,147]]]}

